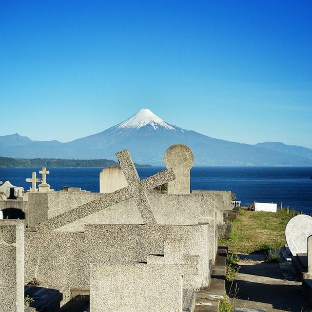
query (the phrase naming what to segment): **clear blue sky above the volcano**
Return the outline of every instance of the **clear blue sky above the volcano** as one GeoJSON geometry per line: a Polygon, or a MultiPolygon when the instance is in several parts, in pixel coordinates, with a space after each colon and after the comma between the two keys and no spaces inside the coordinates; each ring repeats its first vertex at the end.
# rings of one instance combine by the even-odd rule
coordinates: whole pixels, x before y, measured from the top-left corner
{"type": "Polygon", "coordinates": [[[0,136],[65,142],[141,108],[312,148],[312,1],[0,0],[0,136]]]}

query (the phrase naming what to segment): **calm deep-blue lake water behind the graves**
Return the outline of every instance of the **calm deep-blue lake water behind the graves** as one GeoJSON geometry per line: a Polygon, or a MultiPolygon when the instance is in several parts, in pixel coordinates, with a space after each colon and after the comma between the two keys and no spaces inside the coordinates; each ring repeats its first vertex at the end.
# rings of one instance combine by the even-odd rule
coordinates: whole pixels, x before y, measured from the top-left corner
{"type": "MultiPolygon", "coordinates": [[[[141,179],[163,167],[138,168],[141,179]]],[[[101,168],[50,168],[47,182],[55,189],[63,186],[99,191],[101,168]]],[[[39,168],[0,168],[0,180],[29,188],[26,177],[39,168]]],[[[274,202],[312,214],[312,168],[298,167],[195,167],[191,170],[192,190],[230,190],[242,204],[274,202]]]]}

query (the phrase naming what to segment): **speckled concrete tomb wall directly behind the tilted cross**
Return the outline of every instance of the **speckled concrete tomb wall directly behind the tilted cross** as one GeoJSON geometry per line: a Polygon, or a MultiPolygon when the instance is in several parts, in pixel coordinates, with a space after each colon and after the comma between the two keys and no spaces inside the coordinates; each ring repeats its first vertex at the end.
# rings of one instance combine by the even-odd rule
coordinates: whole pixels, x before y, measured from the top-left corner
{"type": "MultiPolygon", "coordinates": [[[[68,212],[82,204],[99,199],[98,193],[29,193],[29,204],[26,221],[30,228],[47,218],[68,212]]],[[[166,195],[148,194],[148,200],[158,224],[196,224],[214,218],[214,195],[166,195]]],[[[217,218],[223,223],[223,214],[217,211],[217,218]],[[221,221],[222,219],[222,221],[221,221]]],[[[129,198],[94,214],[82,217],[60,227],[56,231],[82,232],[84,224],[142,224],[143,220],[137,209],[136,202],[129,198]]]]}

